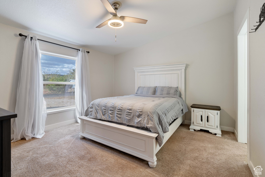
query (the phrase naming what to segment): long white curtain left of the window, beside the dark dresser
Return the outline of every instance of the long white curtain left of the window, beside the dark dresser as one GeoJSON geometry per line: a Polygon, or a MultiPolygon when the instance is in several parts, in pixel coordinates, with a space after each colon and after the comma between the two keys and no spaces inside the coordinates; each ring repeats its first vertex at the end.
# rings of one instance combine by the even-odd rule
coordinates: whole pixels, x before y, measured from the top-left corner
{"type": "Polygon", "coordinates": [[[14,139],[26,140],[41,138],[46,120],[46,102],[43,98],[43,79],[41,71],[41,53],[37,36],[27,36],[19,72],[16,109],[17,118],[13,124],[14,139]]]}

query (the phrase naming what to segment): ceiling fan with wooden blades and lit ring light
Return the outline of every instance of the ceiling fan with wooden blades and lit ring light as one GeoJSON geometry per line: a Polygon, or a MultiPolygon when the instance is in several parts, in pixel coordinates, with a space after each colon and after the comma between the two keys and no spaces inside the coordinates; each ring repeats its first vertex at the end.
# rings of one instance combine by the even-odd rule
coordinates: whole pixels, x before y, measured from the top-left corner
{"type": "Polygon", "coordinates": [[[100,0],[103,5],[106,7],[106,9],[109,11],[109,13],[112,15],[111,19],[108,19],[98,25],[96,28],[101,28],[105,25],[109,25],[110,27],[113,28],[121,28],[123,27],[123,21],[127,22],[133,22],[133,23],[142,23],[146,24],[147,20],[144,19],[139,19],[139,18],[134,18],[134,17],[126,17],[126,16],[118,16],[117,15],[117,10],[121,7],[121,2],[120,1],[112,1],[112,5],[109,3],[108,0],[100,0]]]}

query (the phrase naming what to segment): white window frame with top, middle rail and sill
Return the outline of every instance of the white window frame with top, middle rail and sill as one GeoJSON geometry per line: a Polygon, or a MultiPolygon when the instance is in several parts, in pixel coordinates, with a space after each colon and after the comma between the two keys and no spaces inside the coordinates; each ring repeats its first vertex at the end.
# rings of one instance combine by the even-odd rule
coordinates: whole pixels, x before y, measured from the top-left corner
{"type": "MultiPolygon", "coordinates": [[[[61,54],[56,54],[56,53],[51,53],[47,51],[42,51],[40,55],[50,55],[53,57],[60,57],[60,58],[65,58],[65,59],[71,59],[76,61],[76,57],[71,57],[68,55],[61,55],[61,54]]],[[[44,84],[56,84],[56,85],[76,85],[76,82],[48,82],[48,81],[43,81],[44,84]]],[[[52,108],[52,109],[47,109],[47,114],[54,114],[54,113],[60,113],[64,111],[70,111],[70,110],[75,110],[76,105],[74,103],[74,106],[64,106],[64,107],[58,107],[58,108],[52,108]]]]}

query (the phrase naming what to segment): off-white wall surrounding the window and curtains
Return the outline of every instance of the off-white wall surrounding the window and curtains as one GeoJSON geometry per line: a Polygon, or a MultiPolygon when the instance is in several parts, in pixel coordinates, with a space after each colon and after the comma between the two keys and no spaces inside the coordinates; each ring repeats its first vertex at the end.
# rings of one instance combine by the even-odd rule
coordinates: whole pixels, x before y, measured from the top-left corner
{"type": "MultiPolygon", "coordinates": [[[[13,112],[15,112],[17,84],[24,47],[23,42],[25,41],[25,37],[18,36],[19,33],[24,35],[31,34],[31,36],[37,35],[37,37],[42,40],[55,42],[77,49],[82,48],[82,46],[68,44],[66,42],[54,40],[52,38],[0,24],[0,107],[13,112]]],[[[58,46],[54,47],[58,48],[58,46]]],[[[113,96],[113,55],[101,53],[99,51],[87,48],[85,49],[90,51],[88,57],[92,100],[113,96]]],[[[61,50],[72,51],[72,49],[63,47],[61,50]]],[[[45,126],[73,119],[75,119],[75,110],[49,114],[47,115],[45,126]]],[[[14,119],[11,120],[11,125],[13,122],[14,119]]],[[[13,132],[14,131],[11,128],[11,134],[13,134],[13,132]]]]}

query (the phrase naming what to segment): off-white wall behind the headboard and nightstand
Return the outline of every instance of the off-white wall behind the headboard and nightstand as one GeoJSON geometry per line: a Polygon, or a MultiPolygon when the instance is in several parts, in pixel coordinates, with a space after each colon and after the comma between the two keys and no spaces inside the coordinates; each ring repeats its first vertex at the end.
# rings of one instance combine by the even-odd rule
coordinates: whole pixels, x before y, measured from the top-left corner
{"type": "Polygon", "coordinates": [[[185,120],[194,104],[221,107],[220,126],[234,127],[233,13],[114,56],[114,96],[135,93],[133,67],[187,63],[185,120]]]}

